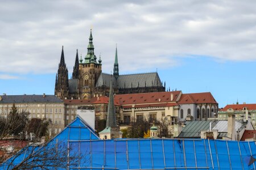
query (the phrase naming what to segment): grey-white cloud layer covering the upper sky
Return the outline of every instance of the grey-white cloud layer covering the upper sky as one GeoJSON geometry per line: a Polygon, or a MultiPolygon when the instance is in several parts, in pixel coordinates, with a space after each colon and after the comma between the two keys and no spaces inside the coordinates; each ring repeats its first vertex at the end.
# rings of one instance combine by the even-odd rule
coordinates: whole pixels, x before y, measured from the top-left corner
{"type": "Polygon", "coordinates": [[[177,58],[255,61],[254,1],[1,1],[0,71],[55,73],[64,45],[69,73],[93,27],[103,70],[177,66],[177,58]]]}

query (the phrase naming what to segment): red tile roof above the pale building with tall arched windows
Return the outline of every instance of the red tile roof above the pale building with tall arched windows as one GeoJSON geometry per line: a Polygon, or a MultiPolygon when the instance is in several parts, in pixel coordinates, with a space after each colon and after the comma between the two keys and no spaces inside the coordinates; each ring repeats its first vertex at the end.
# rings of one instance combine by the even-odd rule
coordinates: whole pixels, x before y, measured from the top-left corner
{"type": "Polygon", "coordinates": [[[195,94],[182,94],[178,104],[200,104],[200,103],[213,103],[217,104],[210,92],[195,93],[195,94]]]}

